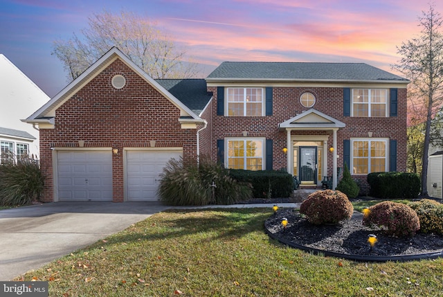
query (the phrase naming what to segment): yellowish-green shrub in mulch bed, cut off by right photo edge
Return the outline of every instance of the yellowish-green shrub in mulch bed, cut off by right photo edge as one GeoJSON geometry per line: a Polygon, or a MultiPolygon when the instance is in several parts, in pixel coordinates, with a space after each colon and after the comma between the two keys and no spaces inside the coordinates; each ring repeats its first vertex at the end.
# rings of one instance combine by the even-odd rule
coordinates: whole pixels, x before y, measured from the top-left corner
{"type": "Polygon", "coordinates": [[[443,234],[443,205],[431,199],[408,204],[420,220],[420,232],[443,234]]]}

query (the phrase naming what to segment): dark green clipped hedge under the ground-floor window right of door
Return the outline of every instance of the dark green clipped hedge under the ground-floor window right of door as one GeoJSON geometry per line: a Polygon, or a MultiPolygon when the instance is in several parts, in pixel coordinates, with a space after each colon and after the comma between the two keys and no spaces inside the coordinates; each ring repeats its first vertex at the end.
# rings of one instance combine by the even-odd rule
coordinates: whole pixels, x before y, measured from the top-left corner
{"type": "Polygon", "coordinates": [[[420,193],[420,179],[415,173],[373,172],[367,177],[370,195],[381,199],[415,199],[420,193]]]}

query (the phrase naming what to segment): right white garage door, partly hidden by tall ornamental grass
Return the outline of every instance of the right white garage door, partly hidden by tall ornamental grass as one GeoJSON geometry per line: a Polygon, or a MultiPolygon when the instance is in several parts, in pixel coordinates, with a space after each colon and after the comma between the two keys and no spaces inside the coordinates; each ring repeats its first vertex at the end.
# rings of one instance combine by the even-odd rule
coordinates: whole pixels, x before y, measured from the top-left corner
{"type": "Polygon", "coordinates": [[[171,158],[179,159],[181,151],[127,151],[126,181],[128,201],[158,201],[156,195],[160,174],[171,158]]]}

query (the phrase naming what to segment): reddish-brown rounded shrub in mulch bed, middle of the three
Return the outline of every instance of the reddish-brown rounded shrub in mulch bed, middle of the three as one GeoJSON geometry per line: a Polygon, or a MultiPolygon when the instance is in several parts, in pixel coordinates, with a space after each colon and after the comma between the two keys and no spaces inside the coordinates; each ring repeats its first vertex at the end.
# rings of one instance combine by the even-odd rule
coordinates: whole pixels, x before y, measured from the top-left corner
{"type": "Polygon", "coordinates": [[[398,237],[413,236],[420,228],[419,217],[410,206],[392,201],[371,206],[363,225],[379,226],[386,234],[398,237]]]}

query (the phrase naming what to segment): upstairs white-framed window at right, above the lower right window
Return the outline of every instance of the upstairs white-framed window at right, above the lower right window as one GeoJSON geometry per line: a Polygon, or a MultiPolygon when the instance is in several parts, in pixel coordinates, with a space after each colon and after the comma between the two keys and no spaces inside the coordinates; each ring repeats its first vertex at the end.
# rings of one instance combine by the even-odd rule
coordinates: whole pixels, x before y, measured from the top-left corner
{"type": "Polygon", "coordinates": [[[352,89],[352,116],[387,117],[389,89],[352,89]]]}

